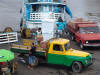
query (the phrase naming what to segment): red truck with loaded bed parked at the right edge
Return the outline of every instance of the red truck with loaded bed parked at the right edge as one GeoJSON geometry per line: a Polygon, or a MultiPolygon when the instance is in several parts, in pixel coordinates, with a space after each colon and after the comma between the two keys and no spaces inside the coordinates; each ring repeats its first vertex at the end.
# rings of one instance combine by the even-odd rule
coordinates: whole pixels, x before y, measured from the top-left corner
{"type": "Polygon", "coordinates": [[[81,49],[100,46],[100,28],[95,22],[73,20],[68,23],[67,28],[71,40],[79,43],[81,49]]]}

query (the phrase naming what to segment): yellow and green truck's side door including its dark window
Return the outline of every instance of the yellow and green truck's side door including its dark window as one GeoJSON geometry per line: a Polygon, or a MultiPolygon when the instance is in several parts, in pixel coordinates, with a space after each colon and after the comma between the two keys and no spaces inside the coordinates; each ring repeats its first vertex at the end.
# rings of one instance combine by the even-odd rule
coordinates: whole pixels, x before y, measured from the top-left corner
{"type": "Polygon", "coordinates": [[[52,52],[48,54],[48,63],[63,64],[64,50],[62,45],[54,44],[52,49],[52,52]]]}

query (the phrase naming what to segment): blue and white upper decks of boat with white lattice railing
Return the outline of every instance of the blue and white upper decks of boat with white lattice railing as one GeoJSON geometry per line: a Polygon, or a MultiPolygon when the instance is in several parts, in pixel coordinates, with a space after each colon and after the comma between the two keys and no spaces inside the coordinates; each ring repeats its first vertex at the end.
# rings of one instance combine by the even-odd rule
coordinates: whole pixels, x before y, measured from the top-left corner
{"type": "Polygon", "coordinates": [[[24,0],[23,26],[28,29],[39,28],[43,20],[65,20],[66,2],[62,0],[24,0]]]}

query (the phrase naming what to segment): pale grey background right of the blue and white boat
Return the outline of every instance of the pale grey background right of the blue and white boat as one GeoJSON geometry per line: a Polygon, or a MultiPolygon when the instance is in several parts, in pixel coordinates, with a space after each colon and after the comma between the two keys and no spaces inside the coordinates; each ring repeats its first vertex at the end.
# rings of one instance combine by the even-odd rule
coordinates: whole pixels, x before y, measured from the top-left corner
{"type": "Polygon", "coordinates": [[[87,17],[87,13],[100,13],[100,0],[67,0],[74,17],[87,17]]]}

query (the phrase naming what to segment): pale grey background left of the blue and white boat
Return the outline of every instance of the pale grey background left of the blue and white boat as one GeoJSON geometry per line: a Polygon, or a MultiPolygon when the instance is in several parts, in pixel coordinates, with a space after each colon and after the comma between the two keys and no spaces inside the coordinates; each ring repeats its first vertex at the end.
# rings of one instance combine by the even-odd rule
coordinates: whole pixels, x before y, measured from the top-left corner
{"type": "Polygon", "coordinates": [[[21,5],[22,0],[0,0],[0,31],[8,26],[19,30],[21,5]]]}

